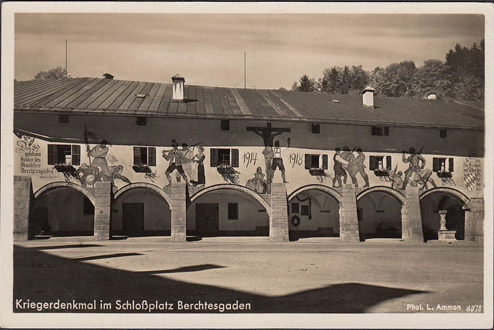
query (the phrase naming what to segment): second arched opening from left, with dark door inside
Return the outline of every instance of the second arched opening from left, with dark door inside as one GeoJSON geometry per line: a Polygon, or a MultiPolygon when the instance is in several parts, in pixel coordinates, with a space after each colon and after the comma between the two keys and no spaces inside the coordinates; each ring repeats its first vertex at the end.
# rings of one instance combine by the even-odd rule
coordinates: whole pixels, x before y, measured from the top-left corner
{"type": "Polygon", "coordinates": [[[169,236],[172,212],[158,187],[126,187],[115,194],[110,233],[123,236],[169,236]]]}

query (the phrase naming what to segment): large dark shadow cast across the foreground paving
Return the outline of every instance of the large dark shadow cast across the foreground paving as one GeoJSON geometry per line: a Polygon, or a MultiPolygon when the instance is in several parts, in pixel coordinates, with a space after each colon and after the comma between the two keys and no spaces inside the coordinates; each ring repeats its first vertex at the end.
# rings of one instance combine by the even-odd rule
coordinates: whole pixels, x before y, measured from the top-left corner
{"type": "MultiPolygon", "coordinates": [[[[216,265],[198,265],[187,267],[185,271],[204,270],[204,266],[219,268],[216,265]]],[[[173,270],[172,270],[173,271],[173,270]]],[[[184,270],[182,270],[184,271],[184,270]]],[[[64,259],[49,255],[39,248],[14,246],[14,312],[36,312],[33,309],[16,308],[16,299],[38,302],[90,303],[93,300],[112,303],[112,309],[106,310],[53,310],[54,312],[136,312],[139,310],[116,310],[115,301],[135,300],[136,302],[174,303],[173,311],[165,313],[218,313],[213,310],[178,310],[176,302],[184,303],[249,303],[248,311],[225,310],[225,313],[364,313],[369,307],[385,300],[399,298],[409,294],[421,294],[424,291],[404,290],[393,287],[381,287],[361,283],[329,285],[315,290],[307,290],[286,296],[262,296],[248,292],[235,291],[211,285],[185,283],[154,276],[170,271],[129,272],[113,268],[104,268],[74,259],[64,259]],[[46,267],[34,268],[30,265],[40,263],[46,267]]],[[[268,281],[268,279],[266,279],[268,281]]]]}

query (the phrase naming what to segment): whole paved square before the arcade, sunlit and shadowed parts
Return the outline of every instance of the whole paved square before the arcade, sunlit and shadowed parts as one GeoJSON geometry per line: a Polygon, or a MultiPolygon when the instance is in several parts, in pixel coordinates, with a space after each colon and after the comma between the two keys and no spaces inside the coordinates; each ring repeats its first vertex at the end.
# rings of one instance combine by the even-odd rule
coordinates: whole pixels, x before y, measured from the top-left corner
{"type": "Polygon", "coordinates": [[[14,311],[33,311],[16,309],[18,299],[96,300],[97,312],[141,312],[135,305],[118,309],[126,300],[174,304],[173,310],[152,311],[200,313],[221,311],[204,310],[199,301],[250,304],[244,311],[224,310],[236,313],[466,312],[469,305],[483,305],[480,244],[163,240],[16,244],[14,311]],[[196,306],[177,309],[178,300],[196,306]],[[102,310],[101,301],[111,307],[102,310]]]}

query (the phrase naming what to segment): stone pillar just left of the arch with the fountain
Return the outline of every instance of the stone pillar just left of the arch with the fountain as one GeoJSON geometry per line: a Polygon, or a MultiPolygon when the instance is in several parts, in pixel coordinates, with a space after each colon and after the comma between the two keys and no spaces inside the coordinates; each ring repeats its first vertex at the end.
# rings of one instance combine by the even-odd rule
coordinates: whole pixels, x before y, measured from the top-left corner
{"type": "Polygon", "coordinates": [[[423,242],[419,187],[407,186],[405,204],[401,206],[401,238],[403,241],[423,242]]]}

